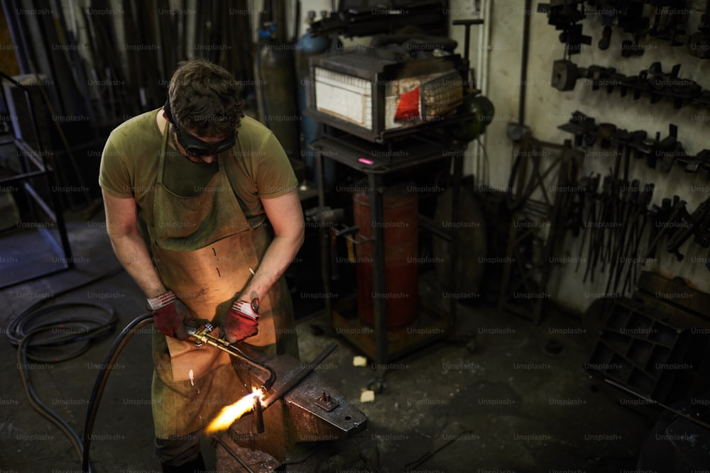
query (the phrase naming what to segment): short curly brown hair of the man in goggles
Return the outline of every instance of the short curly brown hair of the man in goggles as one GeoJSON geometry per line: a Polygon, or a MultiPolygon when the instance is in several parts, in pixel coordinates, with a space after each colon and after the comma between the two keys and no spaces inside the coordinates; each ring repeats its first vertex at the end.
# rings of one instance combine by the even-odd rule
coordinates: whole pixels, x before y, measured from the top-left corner
{"type": "Polygon", "coordinates": [[[239,93],[229,71],[202,58],[180,62],[168,87],[175,122],[204,138],[228,135],[239,126],[244,116],[239,93]]]}

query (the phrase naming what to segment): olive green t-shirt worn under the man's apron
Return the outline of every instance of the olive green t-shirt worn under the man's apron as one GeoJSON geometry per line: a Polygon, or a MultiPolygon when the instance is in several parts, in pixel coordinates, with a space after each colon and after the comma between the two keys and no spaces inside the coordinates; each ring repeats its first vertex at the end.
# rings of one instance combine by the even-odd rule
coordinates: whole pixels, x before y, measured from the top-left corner
{"type": "Polygon", "coordinates": [[[293,167],[280,143],[271,130],[253,118],[242,118],[234,148],[206,165],[191,162],[167,145],[169,142],[155,121],[160,110],[142,113],[114,129],[104,146],[99,168],[102,189],[112,196],[135,199],[148,227],[155,225],[153,199],[161,150],[165,150],[163,184],[179,196],[204,191],[218,170],[217,160],[224,160],[232,191],[252,226],[259,226],[266,219],[261,199],[297,188],[293,167]]]}

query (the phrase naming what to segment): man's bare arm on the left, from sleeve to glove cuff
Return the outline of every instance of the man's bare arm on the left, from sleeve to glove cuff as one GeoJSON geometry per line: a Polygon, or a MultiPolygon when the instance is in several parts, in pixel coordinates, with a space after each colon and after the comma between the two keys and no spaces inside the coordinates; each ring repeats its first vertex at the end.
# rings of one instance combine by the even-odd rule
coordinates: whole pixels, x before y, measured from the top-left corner
{"type": "Polygon", "coordinates": [[[133,199],[121,199],[102,191],[106,228],[116,257],[147,298],[167,291],[155,271],[148,247],[138,232],[138,210],[133,199]]]}

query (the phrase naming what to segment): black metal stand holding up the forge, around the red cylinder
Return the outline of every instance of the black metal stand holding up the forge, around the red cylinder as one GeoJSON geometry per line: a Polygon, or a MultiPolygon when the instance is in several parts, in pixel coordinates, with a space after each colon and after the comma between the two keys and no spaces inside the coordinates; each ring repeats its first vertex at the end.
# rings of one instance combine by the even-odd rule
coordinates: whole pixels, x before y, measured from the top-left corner
{"type": "MultiPolygon", "coordinates": [[[[377,294],[386,293],[385,287],[385,243],[383,226],[376,223],[383,221],[383,177],[386,174],[411,169],[431,162],[447,162],[451,157],[453,161],[453,191],[452,196],[452,221],[459,218],[459,191],[463,174],[462,152],[447,153],[451,149],[450,145],[443,145],[437,141],[425,138],[409,138],[411,143],[408,148],[407,157],[379,157],[378,153],[371,152],[373,143],[366,142],[352,135],[342,137],[327,136],[315,140],[311,147],[316,152],[317,180],[319,187],[319,205],[325,205],[323,159],[334,160],[352,169],[366,174],[369,190],[370,219],[371,219],[371,243],[373,259],[373,291],[377,294]],[[359,160],[362,156],[367,156],[366,162],[359,160]],[[371,164],[370,164],[371,163],[371,164]]],[[[434,226],[433,222],[420,216],[420,227],[425,227],[435,232],[450,242],[450,254],[452,269],[458,257],[457,230],[455,228],[444,229],[434,226]]],[[[333,301],[330,294],[330,267],[329,267],[329,245],[327,243],[327,229],[321,228],[322,243],[322,275],[324,284],[325,310],[329,315],[331,323],[337,333],[343,335],[359,350],[368,355],[378,365],[383,365],[391,360],[413,352],[418,348],[440,340],[449,335],[454,327],[454,319],[457,309],[456,299],[449,298],[449,308],[442,313],[440,304],[427,304],[427,301],[420,296],[420,310],[417,313],[417,330],[387,329],[386,300],[376,298],[373,300],[373,328],[366,328],[358,319],[352,316],[353,303],[348,298],[341,298],[333,301]]],[[[451,291],[457,292],[457,280],[452,277],[451,291]]]]}

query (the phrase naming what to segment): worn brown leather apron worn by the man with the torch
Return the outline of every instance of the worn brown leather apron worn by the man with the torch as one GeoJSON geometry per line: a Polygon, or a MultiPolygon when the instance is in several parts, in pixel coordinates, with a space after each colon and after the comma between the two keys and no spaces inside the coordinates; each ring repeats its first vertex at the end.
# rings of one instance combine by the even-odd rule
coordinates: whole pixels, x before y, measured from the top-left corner
{"type": "MultiPolygon", "coordinates": [[[[217,157],[219,170],[199,194],[178,196],[165,187],[167,125],[164,135],[154,222],[149,226],[155,267],[165,287],[175,291],[196,318],[219,327],[249,283],[250,269],[256,272],[271,236],[265,226],[250,226],[224,170],[224,157],[217,157]]],[[[259,312],[258,334],[244,343],[260,352],[290,352],[297,357],[293,308],[283,277],[268,294],[260,294],[259,312]]],[[[153,362],[152,406],[158,438],[196,432],[224,405],[251,392],[251,386],[241,381],[248,379],[246,364],[209,345],[196,347],[155,331],[153,362]]]]}

